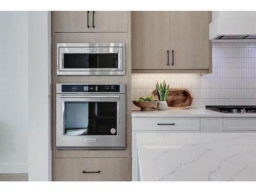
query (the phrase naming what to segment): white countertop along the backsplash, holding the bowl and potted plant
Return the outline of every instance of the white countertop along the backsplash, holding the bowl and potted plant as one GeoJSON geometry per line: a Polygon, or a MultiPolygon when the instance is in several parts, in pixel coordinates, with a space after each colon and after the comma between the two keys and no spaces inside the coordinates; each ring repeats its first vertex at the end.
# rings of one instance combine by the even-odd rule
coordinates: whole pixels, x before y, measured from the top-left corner
{"type": "Polygon", "coordinates": [[[132,110],[132,117],[256,117],[256,113],[220,113],[205,109],[185,109],[166,111],[132,110]]]}

